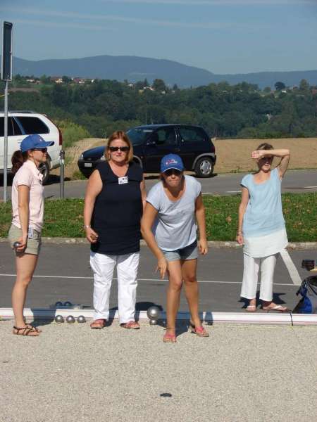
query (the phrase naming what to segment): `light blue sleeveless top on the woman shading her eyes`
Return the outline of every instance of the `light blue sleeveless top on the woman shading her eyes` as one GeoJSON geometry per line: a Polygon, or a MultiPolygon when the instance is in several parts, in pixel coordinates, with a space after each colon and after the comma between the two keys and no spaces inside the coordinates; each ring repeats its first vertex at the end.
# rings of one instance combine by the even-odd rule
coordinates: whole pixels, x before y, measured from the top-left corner
{"type": "Polygon", "coordinates": [[[281,180],[277,168],[271,171],[270,179],[262,184],[254,183],[254,175],[247,174],[241,185],[249,191],[249,203],[242,224],[243,236],[266,236],[285,228],[281,180]]]}

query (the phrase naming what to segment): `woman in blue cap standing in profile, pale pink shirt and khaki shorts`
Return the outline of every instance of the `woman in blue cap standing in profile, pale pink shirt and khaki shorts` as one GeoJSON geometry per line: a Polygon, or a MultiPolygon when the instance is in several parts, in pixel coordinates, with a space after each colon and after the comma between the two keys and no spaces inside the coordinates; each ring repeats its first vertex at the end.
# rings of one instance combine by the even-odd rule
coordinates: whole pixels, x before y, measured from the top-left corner
{"type": "Polygon", "coordinates": [[[39,248],[44,219],[43,175],[39,165],[46,161],[46,142],[37,134],[26,136],[20,143],[20,150],[12,156],[12,224],[8,233],[11,247],[15,250],[16,279],[12,291],[12,307],[15,316],[13,334],[39,335],[40,331],[25,324],[23,309],[27,287],[32,280],[39,248]]]}

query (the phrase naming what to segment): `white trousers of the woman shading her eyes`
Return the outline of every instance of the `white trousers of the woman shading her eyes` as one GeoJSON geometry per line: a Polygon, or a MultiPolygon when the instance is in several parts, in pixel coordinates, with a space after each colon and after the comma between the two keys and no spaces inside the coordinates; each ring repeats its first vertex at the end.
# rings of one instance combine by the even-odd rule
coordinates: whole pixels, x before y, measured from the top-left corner
{"type": "Polygon", "coordinates": [[[246,299],[256,298],[259,269],[261,268],[260,299],[271,302],[273,299],[273,276],[276,264],[276,255],[263,258],[253,258],[244,255],[244,268],[241,296],[246,299]]]}

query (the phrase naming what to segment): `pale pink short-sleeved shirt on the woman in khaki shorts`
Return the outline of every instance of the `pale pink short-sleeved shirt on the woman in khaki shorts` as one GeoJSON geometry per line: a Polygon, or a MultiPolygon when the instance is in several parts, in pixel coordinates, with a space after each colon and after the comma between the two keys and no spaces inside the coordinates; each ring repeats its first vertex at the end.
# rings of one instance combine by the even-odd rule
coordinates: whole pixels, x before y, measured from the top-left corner
{"type": "Polygon", "coordinates": [[[43,175],[31,160],[25,161],[22,167],[15,173],[12,183],[12,224],[21,228],[18,209],[18,186],[25,185],[30,188],[29,202],[29,226],[37,231],[42,230],[44,218],[44,187],[42,185],[43,175]]]}

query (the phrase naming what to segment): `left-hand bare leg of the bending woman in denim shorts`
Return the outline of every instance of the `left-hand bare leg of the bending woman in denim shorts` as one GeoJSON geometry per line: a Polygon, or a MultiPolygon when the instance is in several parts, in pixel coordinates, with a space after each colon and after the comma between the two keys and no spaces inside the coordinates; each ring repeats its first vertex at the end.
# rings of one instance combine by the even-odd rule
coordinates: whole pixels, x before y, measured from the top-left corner
{"type": "Polygon", "coordinates": [[[180,290],[182,290],[182,267],[180,261],[168,262],[168,290],[166,300],[166,324],[168,333],[175,335],[176,316],[180,307],[180,290]]]}

